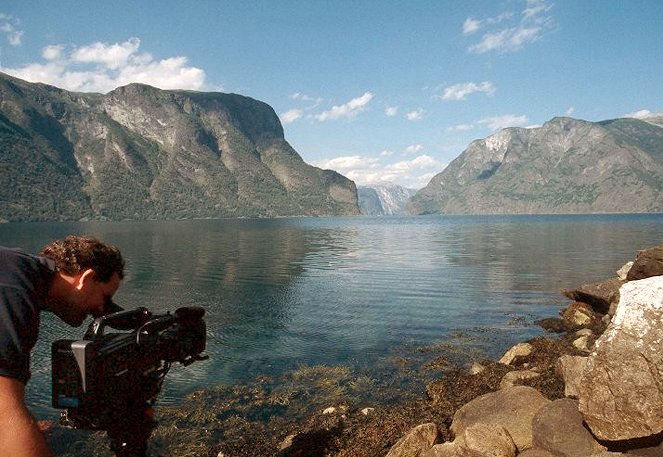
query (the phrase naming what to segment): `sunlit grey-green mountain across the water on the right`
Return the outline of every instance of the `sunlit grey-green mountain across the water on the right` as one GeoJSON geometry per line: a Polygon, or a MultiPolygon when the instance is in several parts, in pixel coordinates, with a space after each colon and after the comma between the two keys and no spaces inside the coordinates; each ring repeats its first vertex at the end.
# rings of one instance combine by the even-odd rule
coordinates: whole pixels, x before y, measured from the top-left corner
{"type": "Polygon", "coordinates": [[[663,119],[554,118],[472,142],[409,214],[663,212],[663,119]]]}

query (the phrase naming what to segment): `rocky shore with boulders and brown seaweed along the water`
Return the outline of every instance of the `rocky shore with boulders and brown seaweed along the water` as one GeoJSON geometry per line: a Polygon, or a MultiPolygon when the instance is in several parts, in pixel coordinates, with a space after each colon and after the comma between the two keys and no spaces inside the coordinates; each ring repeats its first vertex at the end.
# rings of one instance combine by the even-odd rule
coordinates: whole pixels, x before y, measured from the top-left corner
{"type": "MultiPolygon", "coordinates": [[[[663,245],[563,294],[559,317],[537,322],[546,334],[500,360],[421,348],[441,373],[425,392],[323,366],[286,387],[265,378],[196,392],[157,409],[149,455],[663,456],[663,245]]],[[[418,376],[401,363],[403,377],[418,376]]],[[[112,455],[100,432],[56,427],[49,438],[57,455],[112,455]]]]}

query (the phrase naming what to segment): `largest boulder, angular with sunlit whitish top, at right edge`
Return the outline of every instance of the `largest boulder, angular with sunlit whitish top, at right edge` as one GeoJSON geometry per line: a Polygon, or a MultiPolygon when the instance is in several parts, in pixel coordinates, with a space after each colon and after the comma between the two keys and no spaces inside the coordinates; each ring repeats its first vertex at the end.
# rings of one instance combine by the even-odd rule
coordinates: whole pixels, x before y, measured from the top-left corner
{"type": "Polygon", "coordinates": [[[624,284],[579,388],[580,412],[602,440],[663,431],[663,276],[624,284]]]}

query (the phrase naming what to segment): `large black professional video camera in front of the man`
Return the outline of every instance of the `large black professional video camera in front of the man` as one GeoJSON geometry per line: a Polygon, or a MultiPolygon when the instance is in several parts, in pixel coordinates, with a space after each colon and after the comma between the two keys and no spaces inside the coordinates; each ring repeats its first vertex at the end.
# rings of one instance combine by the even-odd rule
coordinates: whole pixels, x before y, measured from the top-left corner
{"type": "Polygon", "coordinates": [[[205,310],[153,315],[146,308],[95,319],[82,340],[51,346],[52,405],[74,428],[104,430],[151,405],[171,363],[203,360],[205,310]],[[122,330],[105,333],[106,327],[122,330]]]}

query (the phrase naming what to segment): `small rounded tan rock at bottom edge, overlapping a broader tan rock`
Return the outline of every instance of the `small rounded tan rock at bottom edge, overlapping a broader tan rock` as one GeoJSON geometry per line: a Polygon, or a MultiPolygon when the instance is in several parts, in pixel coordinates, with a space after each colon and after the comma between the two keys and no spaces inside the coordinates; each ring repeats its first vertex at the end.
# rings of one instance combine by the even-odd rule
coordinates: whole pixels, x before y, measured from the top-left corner
{"type": "MultiPolygon", "coordinates": [[[[456,439],[458,441],[458,439],[456,439]]],[[[515,457],[516,444],[509,432],[497,424],[477,422],[463,431],[460,447],[467,454],[485,457],[515,457]]]]}

